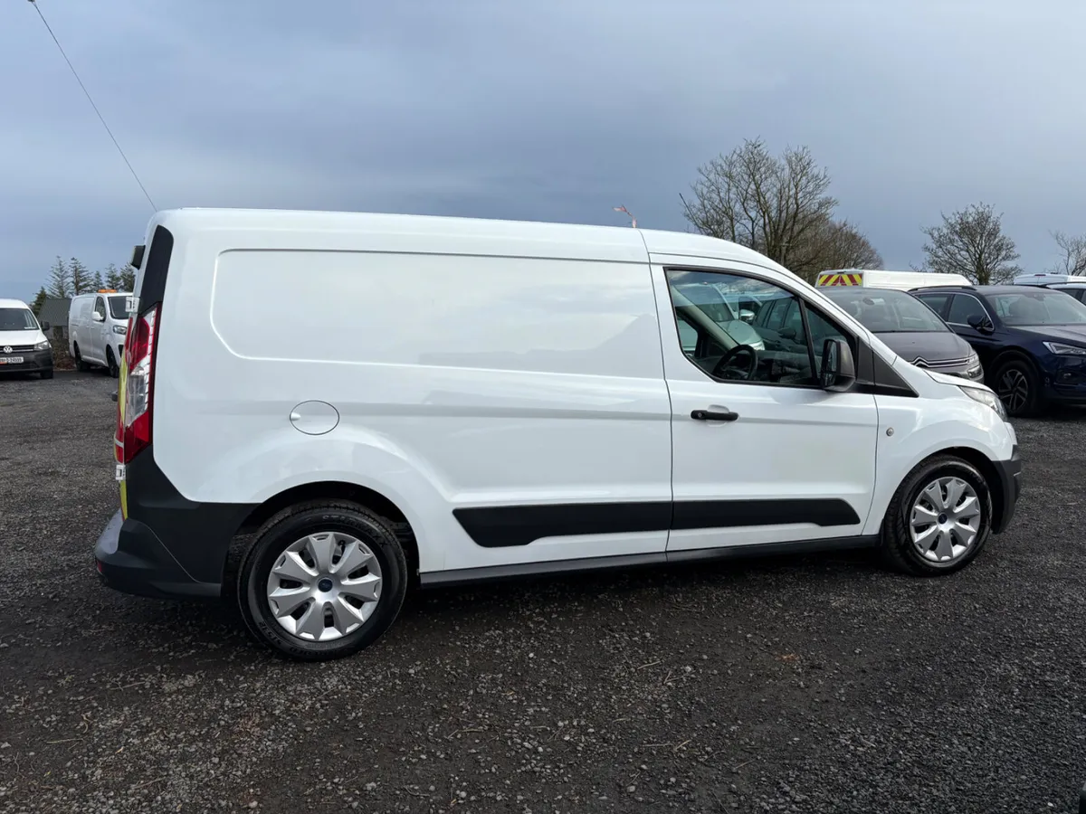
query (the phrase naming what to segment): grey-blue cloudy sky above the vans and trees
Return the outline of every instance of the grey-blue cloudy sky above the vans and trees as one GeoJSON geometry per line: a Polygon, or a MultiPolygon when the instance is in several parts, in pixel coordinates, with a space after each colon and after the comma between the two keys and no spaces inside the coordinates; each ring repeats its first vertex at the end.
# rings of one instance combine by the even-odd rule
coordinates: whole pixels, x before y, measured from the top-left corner
{"type": "MultiPolygon", "coordinates": [[[[806,144],[887,267],[969,203],[1086,232],[1082,0],[39,0],[160,208],[685,229],[698,164],[806,144]]],[[[0,3],[0,296],[123,263],[150,205],[28,2],[0,3]]]]}

